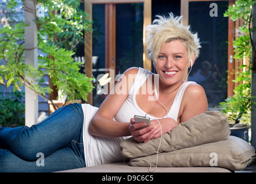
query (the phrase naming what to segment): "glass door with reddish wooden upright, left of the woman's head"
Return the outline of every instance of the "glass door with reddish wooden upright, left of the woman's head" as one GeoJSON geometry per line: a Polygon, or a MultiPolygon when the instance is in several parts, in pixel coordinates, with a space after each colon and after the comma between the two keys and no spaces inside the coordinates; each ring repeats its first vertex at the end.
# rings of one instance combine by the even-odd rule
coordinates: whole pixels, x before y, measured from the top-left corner
{"type": "MultiPolygon", "coordinates": [[[[92,32],[91,74],[97,80],[105,74],[109,74],[107,78],[112,79],[105,86],[95,87],[90,103],[94,106],[101,105],[118,77],[129,67],[146,66],[151,70],[151,61],[144,57],[146,48],[143,43],[143,28],[146,22],[151,24],[151,14],[145,21],[143,1],[124,2],[92,3],[94,31],[92,32]]],[[[151,11],[150,6],[147,8],[151,11]]],[[[87,72],[88,68],[87,63],[87,72]]]]}

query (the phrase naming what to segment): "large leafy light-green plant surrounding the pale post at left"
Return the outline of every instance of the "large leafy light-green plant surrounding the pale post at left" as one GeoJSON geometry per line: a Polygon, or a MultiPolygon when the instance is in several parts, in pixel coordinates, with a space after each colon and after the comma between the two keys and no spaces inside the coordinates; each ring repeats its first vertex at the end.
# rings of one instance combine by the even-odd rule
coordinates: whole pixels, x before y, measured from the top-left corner
{"type": "MultiPolygon", "coordinates": [[[[49,76],[51,83],[57,90],[62,91],[62,95],[68,99],[87,99],[91,92],[92,79],[79,72],[79,66],[83,63],[75,62],[73,55],[76,46],[83,42],[83,33],[91,31],[91,21],[88,15],[79,9],[79,0],[59,0],[59,1],[35,1],[47,9],[47,14],[38,15],[37,9],[25,7],[23,0],[22,11],[29,11],[35,15],[38,30],[38,49],[43,55],[38,57],[38,67],[33,67],[25,63],[25,43],[24,43],[24,21],[14,24],[13,14],[17,6],[17,1],[10,0],[7,8],[2,14],[5,17],[5,25],[0,30],[0,60],[5,64],[0,66],[0,83],[9,87],[14,86],[14,91],[26,86],[35,91],[41,97],[51,101],[57,109],[49,95],[53,91],[50,87],[42,87],[43,76],[49,76]],[[10,16],[12,15],[12,16],[10,16]],[[33,79],[32,81],[29,79],[33,79]],[[33,82],[34,81],[34,82],[33,82]]],[[[31,0],[30,0],[31,1],[31,0]]]]}

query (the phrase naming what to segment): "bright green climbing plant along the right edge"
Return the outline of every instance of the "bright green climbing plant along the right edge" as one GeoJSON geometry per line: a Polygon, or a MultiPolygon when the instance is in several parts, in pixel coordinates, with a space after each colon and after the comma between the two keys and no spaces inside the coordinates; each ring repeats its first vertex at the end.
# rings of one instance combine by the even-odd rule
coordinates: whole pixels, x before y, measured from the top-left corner
{"type": "MultiPolygon", "coordinates": [[[[239,83],[234,89],[234,95],[221,102],[222,113],[228,114],[230,122],[235,124],[244,123],[250,125],[251,116],[251,70],[254,63],[251,62],[251,48],[253,47],[251,39],[251,8],[255,1],[238,0],[233,6],[229,6],[224,16],[235,21],[240,18],[243,20],[243,25],[239,27],[240,35],[233,41],[235,55],[234,58],[243,60],[248,57],[250,60],[249,66],[243,64],[239,68],[242,72],[238,72],[238,76],[233,82],[239,83]]],[[[255,102],[254,102],[255,103],[255,102]]]]}

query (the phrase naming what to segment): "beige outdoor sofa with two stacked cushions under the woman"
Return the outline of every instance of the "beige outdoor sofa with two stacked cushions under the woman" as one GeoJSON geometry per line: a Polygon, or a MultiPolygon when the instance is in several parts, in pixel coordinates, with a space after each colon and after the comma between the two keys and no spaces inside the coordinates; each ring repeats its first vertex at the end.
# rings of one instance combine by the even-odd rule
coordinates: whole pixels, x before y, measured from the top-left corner
{"type": "Polygon", "coordinates": [[[230,135],[227,117],[208,111],[181,122],[172,131],[147,143],[133,137],[120,143],[128,163],[61,171],[62,173],[230,173],[243,170],[255,159],[246,141],[230,135]]]}

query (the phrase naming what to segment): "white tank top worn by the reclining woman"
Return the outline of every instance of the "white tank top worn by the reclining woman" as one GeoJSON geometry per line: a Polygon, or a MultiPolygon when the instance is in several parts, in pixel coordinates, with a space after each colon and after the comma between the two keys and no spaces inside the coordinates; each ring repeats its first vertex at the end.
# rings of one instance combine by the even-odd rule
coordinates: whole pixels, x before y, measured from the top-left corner
{"type": "MultiPolygon", "coordinates": [[[[129,90],[128,98],[124,104],[118,110],[113,120],[118,122],[129,122],[131,117],[136,115],[146,115],[142,109],[136,103],[136,93],[149,77],[151,73],[143,68],[139,68],[138,74],[136,75],[135,81],[131,89],[129,90]]],[[[173,101],[172,108],[168,113],[168,117],[172,117],[177,121],[179,114],[181,99],[185,88],[193,82],[185,82],[181,85],[179,91],[176,94],[175,100],[173,101]]],[[[89,125],[92,117],[97,112],[98,108],[89,104],[82,104],[84,112],[84,126],[83,126],[83,143],[84,143],[84,157],[86,160],[86,166],[97,166],[99,164],[123,162],[124,156],[120,152],[120,142],[128,139],[128,137],[98,137],[92,136],[89,133],[89,125]]],[[[152,119],[154,117],[151,117],[152,119]]]]}

